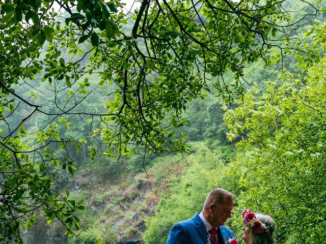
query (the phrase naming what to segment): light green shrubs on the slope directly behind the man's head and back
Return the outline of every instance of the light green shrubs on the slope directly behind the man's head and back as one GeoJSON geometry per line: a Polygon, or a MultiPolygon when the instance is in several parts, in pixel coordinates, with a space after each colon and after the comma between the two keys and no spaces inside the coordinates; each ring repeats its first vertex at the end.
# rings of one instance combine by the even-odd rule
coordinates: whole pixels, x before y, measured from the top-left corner
{"type": "Polygon", "coordinates": [[[238,175],[228,174],[221,154],[213,153],[204,143],[193,148],[193,154],[183,159],[181,177],[166,193],[169,198],[161,197],[155,216],[146,221],[145,243],[166,243],[172,225],[201,211],[211,189],[221,187],[238,193],[238,175]]]}

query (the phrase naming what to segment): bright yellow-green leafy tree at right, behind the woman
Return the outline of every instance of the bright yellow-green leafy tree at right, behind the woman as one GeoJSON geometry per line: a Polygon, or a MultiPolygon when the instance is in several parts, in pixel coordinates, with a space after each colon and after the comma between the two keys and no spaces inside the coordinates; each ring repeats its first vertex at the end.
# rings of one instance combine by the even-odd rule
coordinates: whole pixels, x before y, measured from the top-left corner
{"type": "MultiPolygon", "coordinates": [[[[306,34],[318,46],[325,23],[306,34]]],[[[323,42],[323,41],[322,41],[323,42]]],[[[324,44],[321,45],[324,48],[324,44]]],[[[266,92],[253,88],[225,115],[237,142],[240,205],[273,216],[280,243],[315,243],[325,236],[325,57],[303,74],[284,71],[266,92]]]]}

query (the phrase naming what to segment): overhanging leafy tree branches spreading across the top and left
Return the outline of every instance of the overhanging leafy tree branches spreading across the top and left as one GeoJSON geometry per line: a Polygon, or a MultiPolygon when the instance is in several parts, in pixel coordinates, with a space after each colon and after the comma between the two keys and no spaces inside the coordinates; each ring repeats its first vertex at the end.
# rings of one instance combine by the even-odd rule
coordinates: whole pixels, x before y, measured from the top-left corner
{"type": "Polygon", "coordinates": [[[71,148],[113,160],[184,150],[185,104],[208,83],[226,101],[241,95],[243,69],[294,50],[291,32],[318,12],[302,1],[313,14],[293,22],[283,2],[143,0],[126,12],[119,0],[1,1],[1,241],[20,241],[38,208],[78,228],[82,201],[55,185],[56,167],[76,169],[71,148]]]}

